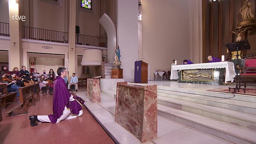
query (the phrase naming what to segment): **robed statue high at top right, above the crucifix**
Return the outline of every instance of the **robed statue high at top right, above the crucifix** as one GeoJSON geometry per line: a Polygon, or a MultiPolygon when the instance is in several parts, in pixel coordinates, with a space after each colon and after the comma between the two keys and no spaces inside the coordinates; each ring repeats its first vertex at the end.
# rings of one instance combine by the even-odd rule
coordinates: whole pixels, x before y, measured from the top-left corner
{"type": "Polygon", "coordinates": [[[246,0],[244,2],[244,5],[240,9],[240,12],[239,12],[242,15],[243,20],[253,19],[253,14],[252,14],[252,8],[251,7],[252,7],[252,4],[248,0],[246,0]]]}

